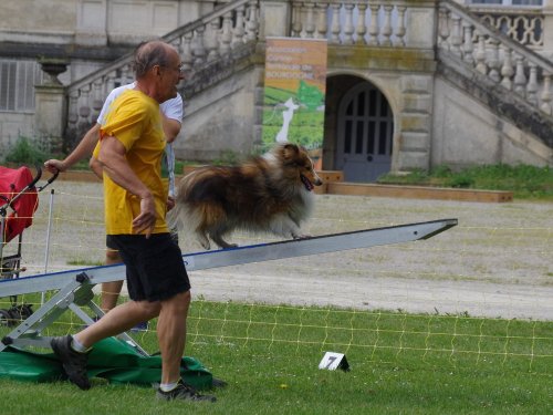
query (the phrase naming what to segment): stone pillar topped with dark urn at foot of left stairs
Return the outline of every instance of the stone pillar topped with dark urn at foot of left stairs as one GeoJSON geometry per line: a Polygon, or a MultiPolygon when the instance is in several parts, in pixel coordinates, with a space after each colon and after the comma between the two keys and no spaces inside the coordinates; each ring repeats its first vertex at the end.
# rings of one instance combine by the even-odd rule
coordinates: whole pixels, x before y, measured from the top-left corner
{"type": "Polygon", "coordinates": [[[34,86],[34,129],[40,137],[50,142],[52,149],[60,149],[65,127],[65,87],[58,75],[67,69],[67,63],[54,59],[39,61],[41,69],[49,75],[42,85],[34,86]]]}

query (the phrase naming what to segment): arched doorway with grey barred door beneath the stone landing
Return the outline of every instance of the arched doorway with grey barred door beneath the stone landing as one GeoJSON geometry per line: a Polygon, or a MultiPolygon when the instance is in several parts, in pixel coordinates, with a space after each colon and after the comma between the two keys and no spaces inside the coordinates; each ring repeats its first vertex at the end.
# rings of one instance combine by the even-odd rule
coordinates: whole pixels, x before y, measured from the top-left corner
{"type": "Polygon", "coordinates": [[[393,137],[384,94],[369,82],[355,85],[338,106],[335,168],[347,181],[375,181],[390,170],[393,137]]]}

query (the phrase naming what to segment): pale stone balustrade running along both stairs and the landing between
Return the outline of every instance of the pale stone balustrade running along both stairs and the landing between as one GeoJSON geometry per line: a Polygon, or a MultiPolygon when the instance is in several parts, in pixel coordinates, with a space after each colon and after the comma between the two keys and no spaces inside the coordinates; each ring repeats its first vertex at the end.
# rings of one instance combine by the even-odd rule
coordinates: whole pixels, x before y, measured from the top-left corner
{"type": "MultiPolygon", "coordinates": [[[[327,39],[331,48],[437,46],[551,115],[553,64],[518,42],[522,35],[523,43],[539,45],[529,33],[538,33],[542,23],[517,19],[488,20],[499,24],[497,30],[451,0],[234,0],[164,39],[180,51],[190,74],[213,62],[225,69],[227,56],[242,45],[272,35],[327,39]]],[[[67,86],[69,146],[96,121],[108,92],[133,79],[132,55],[126,55],[67,86]]]]}

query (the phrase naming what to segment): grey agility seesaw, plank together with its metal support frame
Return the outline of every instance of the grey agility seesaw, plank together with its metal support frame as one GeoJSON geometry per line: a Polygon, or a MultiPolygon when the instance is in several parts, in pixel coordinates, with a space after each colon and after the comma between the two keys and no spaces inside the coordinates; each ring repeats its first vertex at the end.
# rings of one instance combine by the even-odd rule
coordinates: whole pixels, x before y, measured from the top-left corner
{"type": "MultiPolygon", "coordinates": [[[[276,259],[337,252],[349,249],[401,243],[431,238],[457,226],[457,219],[440,219],[418,224],[316,236],[306,239],[251,245],[216,251],[186,253],[182,260],[188,271],[263,262],[276,259]]],[[[125,279],[124,264],[91,267],[71,271],[0,281],[0,297],[59,290],[46,303],[2,339],[0,352],[8,345],[41,345],[49,347],[49,339],[40,333],[64,311],[72,310],[84,323],[92,319],[81,309],[88,305],[96,315],[102,310],[92,301],[95,284],[125,279]]],[[[124,333],[123,339],[147,355],[133,339],[124,333]]]]}

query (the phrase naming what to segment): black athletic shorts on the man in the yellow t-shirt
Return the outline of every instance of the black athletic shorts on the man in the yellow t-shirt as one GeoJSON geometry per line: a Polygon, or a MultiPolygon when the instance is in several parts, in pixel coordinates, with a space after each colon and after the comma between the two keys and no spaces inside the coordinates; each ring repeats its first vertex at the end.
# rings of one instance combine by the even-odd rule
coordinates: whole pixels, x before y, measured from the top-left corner
{"type": "Polygon", "coordinates": [[[135,301],[163,301],[188,291],[190,281],[180,248],[170,234],[109,235],[127,269],[128,295],[135,301]]]}

